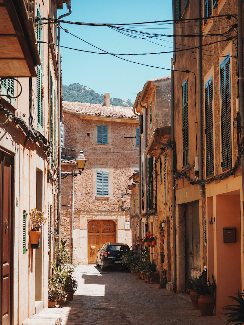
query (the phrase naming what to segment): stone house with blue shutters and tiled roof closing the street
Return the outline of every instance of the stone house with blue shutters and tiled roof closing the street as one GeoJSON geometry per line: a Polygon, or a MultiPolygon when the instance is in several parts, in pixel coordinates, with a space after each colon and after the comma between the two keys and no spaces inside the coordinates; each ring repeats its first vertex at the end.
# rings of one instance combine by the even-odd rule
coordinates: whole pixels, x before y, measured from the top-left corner
{"type": "Polygon", "coordinates": [[[94,264],[105,242],[131,246],[129,196],[126,211],[118,200],[139,170],[139,119],[132,108],[110,106],[105,93],[104,105],[63,102],[62,123],[62,172],[75,169],[72,160],[80,150],[87,162],[81,175],[62,180],[61,234],[70,242],[74,264],[94,264]]]}

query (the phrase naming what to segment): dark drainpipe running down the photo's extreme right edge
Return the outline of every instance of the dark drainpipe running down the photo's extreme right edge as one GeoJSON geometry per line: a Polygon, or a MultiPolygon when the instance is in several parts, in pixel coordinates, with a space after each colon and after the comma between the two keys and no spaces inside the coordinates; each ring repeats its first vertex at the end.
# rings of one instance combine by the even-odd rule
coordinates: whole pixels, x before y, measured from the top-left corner
{"type": "MultiPolygon", "coordinates": [[[[242,0],[238,0],[238,82],[240,96],[241,126],[244,126],[244,90],[243,90],[243,40],[242,40],[242,0]]],[[[241,155],[242,214],[244,209],[244,153],[241,155]]]]}

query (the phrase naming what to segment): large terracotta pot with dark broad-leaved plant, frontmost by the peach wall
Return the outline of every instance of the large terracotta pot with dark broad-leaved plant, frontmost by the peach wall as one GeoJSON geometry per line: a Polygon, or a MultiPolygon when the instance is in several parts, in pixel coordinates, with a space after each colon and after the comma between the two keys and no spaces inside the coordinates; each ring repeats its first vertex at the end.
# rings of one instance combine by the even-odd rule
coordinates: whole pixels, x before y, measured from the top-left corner
{"type": "Polygon", "coordinates": [[[214,292],[216,290],[216,282],[212,275],[213,282],[210,278],[207,280],[207,270],[204,269],[198,279],[190,280],[193,291],[197,293],[197,302],[202,316],[212,316],[215,305],[214,292]]]}

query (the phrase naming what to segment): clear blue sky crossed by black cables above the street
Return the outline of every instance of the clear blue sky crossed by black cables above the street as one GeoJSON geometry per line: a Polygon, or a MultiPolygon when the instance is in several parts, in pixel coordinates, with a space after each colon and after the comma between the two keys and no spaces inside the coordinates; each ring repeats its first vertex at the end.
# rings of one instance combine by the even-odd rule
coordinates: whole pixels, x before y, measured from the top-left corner
{"type": "MultiPolygon", "coordinates": [[[[63,19],[91,23],[133,23],[172,19],[171,0],[71,0],[72,14],[63,19]]],[[[60,16],[68,12],[64,4],[60,16]]],[[[77,26],[61,23],[68,32],[111,53],[149,53],[170,51],[172,38],[151,39],[160,45],[146,40],[125,36],[109,27],[77,26]],[[163,45],[163,46],[162,46],[163,45]],[[167,46],[167,47],[165,47],[167,46]]],[[[171,24],[154,26],[149,30],[155,33],[172,34],[171,24]]],[[[148,31],[143,27],[143,31],[148,31]]],[[[142,30],[142,29],[141,29],[142,30]]],[[[61,31],[61,45],[101,52],[91,45],[61,31]]],[[[142,66],[117,59],[111,55],[79,52],[61,48],[62,83],[85,85],[99,94],[109,92],[111,98],[135,100],[144,83],[170,75],[170,71],[142,66]]],[[[172,53],[147,56],[123,56],[125,59],[170,69],[172,53]]]]}

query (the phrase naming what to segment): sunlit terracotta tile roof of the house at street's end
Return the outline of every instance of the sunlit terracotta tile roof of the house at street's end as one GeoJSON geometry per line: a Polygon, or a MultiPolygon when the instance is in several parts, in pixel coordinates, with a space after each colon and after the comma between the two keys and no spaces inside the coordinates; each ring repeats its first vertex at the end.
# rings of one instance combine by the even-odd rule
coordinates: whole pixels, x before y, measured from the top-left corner
{"type": "Polygon", "coordinates": [[[133,113],[132,107],[124,106],[103,106],[102,104],[76,103],[63,101],[63,110],[67,113],[106,116],[106,117],[120,117],[138,120],[139,117],[133,113]]]}

